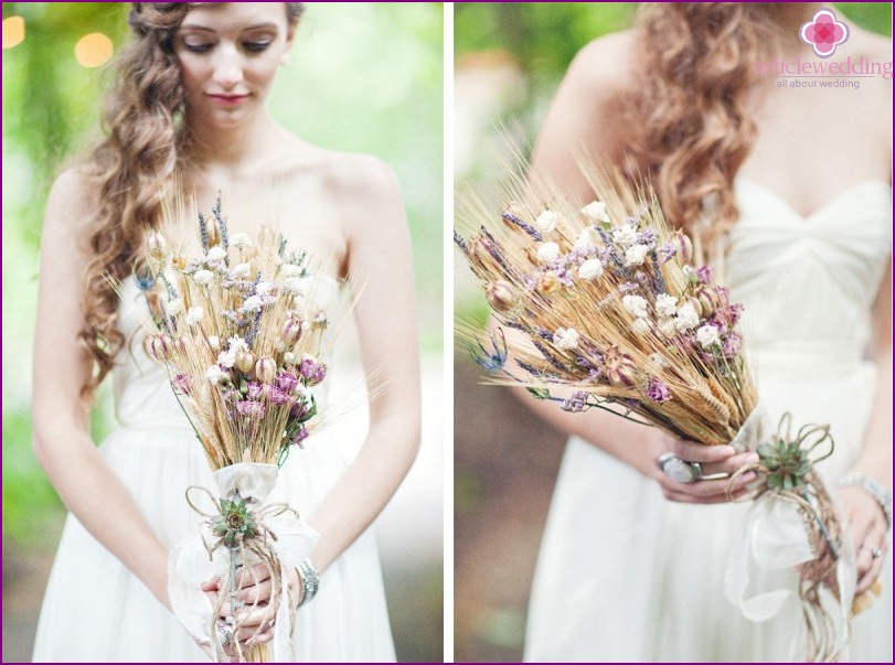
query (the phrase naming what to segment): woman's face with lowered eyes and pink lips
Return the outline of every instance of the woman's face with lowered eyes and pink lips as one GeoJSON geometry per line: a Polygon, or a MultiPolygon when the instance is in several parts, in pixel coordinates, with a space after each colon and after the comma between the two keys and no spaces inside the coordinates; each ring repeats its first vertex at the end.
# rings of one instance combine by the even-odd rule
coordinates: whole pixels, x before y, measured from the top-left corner
{"type": "Polygon", "coordinates": [[[227,2],[190,10],[174,52],[193,125],[242,125],[270,92],[292,43],[283,3],[227,2]]]}

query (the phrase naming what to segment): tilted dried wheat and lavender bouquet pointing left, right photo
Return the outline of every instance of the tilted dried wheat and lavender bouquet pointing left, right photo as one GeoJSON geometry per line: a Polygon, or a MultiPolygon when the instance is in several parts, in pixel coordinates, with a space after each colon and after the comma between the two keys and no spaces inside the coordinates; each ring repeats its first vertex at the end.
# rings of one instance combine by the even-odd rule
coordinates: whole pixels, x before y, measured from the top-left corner
{"type": "MultiPolygon", "coordinates": [[[[743,351],[742,305],[707,266],[694,265],[690,238],[668,227],[648,187],[596,175],[592,185],[601,200],[583,207],[555,195],[543,205],[509,203],[499,216],[480,204],[460,210],[460,224],[479,232],[455,232],[455,243],[496,322],[488,344],[467,334],[475,358],[493,383],[525,386],[565,411],[607,409],[675,438],[757,450],[749,497],[763,508],[750,533],[795,516],[799,543],[782,567],[802,565],[809,655],[834,656],[848,619],[833,615],[848,618],[854,581],[838,566],[848,543],[813,470],[832,452],[827,428],[792,436],[787,420],[774,433],[743,351]]],[[[511,195],[524,200],[521,183],[511,195]]],[[[748,570],[749,547],[739,554],[748,570]]],[[[744,576],[731,593],[745,611],[744,576]]]]}

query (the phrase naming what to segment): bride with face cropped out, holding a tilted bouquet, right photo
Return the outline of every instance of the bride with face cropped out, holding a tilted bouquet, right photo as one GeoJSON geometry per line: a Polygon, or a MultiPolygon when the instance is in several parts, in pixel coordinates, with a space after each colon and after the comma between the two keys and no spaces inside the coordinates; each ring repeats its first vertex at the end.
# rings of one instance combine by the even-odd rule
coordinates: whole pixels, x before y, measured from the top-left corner
{"type": "MultiPolygon", "coordinates": [[[[877,75],[859,89],[790,89],[756,75],[775,57],[811,58],[798,35],[819,9],[644,3],[635,31],[596,40],[575,58],[541,129],[532,179],[587,202],[583,147],[604,167],[632,160],[671,221],[716,248],[732,301],[745,305],[773,421],[791,411],[796,422],[831,425],[835,452],[820,471],[849,519],[857,591],[881,576],[886,588],[852,622],[850,657],[891,662],[892,84],[877,75]],[[710,223],[697,224],[706,214],[710,223]]],[[[891,42],[851,26],[832,60],[848,56],[891,63],[891,42]]],[[[572,435],[525,659],[799,657],[797,608],[750,623],[725,600],[727,555],[747,506],[727,503],[726,480],[676,482],[658,464],[672,452],[703,474],[729,474],[753,453],[523,399],[572,435]]]]}

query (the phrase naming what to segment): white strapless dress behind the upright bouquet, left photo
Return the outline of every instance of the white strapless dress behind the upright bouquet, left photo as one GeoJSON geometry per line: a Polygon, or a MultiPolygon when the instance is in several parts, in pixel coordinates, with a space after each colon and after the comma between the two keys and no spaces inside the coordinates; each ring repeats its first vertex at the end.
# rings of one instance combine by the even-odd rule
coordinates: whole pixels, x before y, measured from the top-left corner
{"type": "MultiPolygon", "coordinates": [[[[339,285],[321,278],[316,292],[334,303],[339,285]]],[[[147,313],[128,282],[119,325],[130,339],[147,313]]],[[[163,368],[139,341],[118,354],[114,369],[117,429],[100,444],[103,457],[130,490],[162,543],[198,534],[199,518],[184,500],[190,485],[214,487],[204,453],[180,410],[163,368]]],[[[338,382],[331,368],[324,384],[338,382]]],[[[338,426],[337,426],[338,427],[338,426]]],[[[302,515],[313,512],[349,463],[337,435],[323,430],[294,450],[280,469],[270,501],[302,515]]],[[[321,577],[320,591],[298,612],[295,631],[302,662],[395,659],[382,572],[371,532],[364,533],[321,577]]],[[[68,515],[41,611],[35,662],[207,662],[178,620],[68,515]]]]}

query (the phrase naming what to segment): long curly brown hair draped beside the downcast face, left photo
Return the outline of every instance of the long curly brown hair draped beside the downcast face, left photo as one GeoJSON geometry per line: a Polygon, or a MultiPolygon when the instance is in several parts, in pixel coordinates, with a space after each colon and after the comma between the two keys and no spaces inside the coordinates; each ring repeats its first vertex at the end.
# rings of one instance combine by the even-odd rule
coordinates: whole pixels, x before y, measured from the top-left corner
{"type": "MultiPolygon", "coordinates": [[[[86,160],[98,199],[89,225],[90,259],[84,275],[78,339],[94,363],[82,387],[92,394],[111,369],[125,336],[116,326],[118,294],[113,286],[135,268],[142,237],[161,217],[161,184],[187,159],[189,135],[182,121],[184,92],[174,36],[187,13],[216,2],[134,2],[128,23],[135,39],[122,49],[107,99],[106,138],[86,160]]],[[[286,2],[290,26],[302,2],[286,2]]]]}

